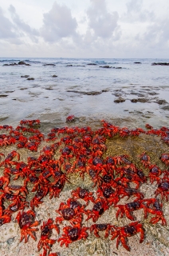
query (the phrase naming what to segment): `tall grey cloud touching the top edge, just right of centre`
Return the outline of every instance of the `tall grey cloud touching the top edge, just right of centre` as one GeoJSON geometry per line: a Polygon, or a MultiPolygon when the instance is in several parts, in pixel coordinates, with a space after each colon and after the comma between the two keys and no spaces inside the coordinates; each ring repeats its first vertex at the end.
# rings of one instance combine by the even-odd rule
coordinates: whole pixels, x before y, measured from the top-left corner
{"type": "Polygon", "coordinates": [[[105,0],[91,0],[92,6],[87,10],[88,26],[96,37],[110,38],[116,29],[119,15],[116,11],[109,13],[105,0]]]}

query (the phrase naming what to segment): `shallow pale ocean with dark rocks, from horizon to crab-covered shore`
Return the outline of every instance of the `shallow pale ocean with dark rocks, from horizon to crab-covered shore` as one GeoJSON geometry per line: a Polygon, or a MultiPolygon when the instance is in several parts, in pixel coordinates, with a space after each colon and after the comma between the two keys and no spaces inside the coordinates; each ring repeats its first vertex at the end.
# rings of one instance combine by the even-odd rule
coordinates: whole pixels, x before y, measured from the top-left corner
{"type": "Polygon", "coordinates": [[[169,59],[0,58],[1,124],[65,126],[73,114],[76,126],[169,126],[169,66],[153,62],[169,59]]]}

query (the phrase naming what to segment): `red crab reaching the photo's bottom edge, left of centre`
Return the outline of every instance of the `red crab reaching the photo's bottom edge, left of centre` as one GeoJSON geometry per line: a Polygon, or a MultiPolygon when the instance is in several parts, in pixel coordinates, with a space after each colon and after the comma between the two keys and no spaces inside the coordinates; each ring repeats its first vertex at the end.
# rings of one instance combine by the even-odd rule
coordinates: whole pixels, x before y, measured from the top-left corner
{"type": "Polygon", "coordinates": [[[56,224],[53,224],[53,219],[49,218],[47,222],[43,222],[43,225],[41,226],[41,239],[39,240],[37,244],[38,251],[41,250],[41,247],[43,248],[43,254],[42,256],[47,255],[47,250],[51,250],[51,246],[56,242],[54,239],[50,239],[52,235],[53,228],[57,230],[57,233],[60,233],[60,230],[56,224]]]}

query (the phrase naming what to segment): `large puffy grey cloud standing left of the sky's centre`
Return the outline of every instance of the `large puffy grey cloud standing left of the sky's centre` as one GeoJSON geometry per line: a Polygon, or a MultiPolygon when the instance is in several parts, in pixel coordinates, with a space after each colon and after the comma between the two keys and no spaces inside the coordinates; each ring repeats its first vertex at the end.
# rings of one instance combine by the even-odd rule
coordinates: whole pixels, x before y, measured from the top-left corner
{"type": "Polygon", "coordinates": [[[67,6],[60,6],[54,2],[52,9],[43,14],[43,22],[41,36],[46,42],[57,42],[61,38],[77,36],[77,20],[72,17],[67,6]]]}

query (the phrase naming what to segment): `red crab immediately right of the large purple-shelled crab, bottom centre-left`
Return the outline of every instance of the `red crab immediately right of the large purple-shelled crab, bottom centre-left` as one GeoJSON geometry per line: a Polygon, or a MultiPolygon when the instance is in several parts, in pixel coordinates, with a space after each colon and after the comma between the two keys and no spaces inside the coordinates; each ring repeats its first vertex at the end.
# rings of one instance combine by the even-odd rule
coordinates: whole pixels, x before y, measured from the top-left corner
{"type": "Polygon", "coordinates": [[[104,213],[105,210],[108,210],[108,203],[104,198],[98,198],[94,202],[94,205],[92,206],[92,210],[86,210],[85,214],[88,215],[88,219],[92,218],[93,222],[96,222],[97,219],[100,217],[101,214],[104,213]]]}

